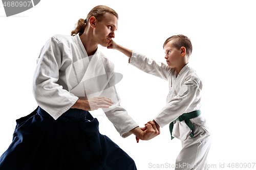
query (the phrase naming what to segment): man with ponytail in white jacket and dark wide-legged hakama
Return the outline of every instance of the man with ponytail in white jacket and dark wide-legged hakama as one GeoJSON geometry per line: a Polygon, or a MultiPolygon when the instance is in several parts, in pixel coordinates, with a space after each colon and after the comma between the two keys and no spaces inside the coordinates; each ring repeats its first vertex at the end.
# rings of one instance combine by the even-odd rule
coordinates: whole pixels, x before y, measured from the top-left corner
{"type": "Polygon", "coordinates": [[[148,140],[160,133],[154,123],[142,131],[120,106],[114,65],[97,50],[115,37],[117,19],[111,8],[97,6],[78,21],[82,31],[52,36],[42,47],[33,81],[39,107],[17,120],[0,169],[136,169],[88,112],[102,108],[122,137],[148,140]]]}

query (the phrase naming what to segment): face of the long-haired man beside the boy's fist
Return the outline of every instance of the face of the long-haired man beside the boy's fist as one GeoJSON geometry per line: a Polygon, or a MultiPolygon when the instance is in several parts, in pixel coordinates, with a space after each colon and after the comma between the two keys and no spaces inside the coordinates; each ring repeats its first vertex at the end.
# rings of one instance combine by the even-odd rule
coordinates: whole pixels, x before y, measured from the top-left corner
{"type": "Polygon", "coordinates": [[[106,13],[101,21],[96,20],[93,34],[98,44],[109,45],[111,39],[115,38],[117,23],[117,17],[111,13],[106,13]]]}

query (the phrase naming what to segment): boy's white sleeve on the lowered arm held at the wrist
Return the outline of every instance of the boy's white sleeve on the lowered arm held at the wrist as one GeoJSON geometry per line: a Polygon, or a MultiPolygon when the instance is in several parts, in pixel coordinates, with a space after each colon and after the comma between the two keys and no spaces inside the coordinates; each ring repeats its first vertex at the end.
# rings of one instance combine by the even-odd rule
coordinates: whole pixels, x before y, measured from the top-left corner
{"type": "Polygon", "coordinates": [[[185,113],[200,93],[200,88],[192,82],[185,82],[178,94],[154,118],[156,123],[163,128],[185,113]]]}

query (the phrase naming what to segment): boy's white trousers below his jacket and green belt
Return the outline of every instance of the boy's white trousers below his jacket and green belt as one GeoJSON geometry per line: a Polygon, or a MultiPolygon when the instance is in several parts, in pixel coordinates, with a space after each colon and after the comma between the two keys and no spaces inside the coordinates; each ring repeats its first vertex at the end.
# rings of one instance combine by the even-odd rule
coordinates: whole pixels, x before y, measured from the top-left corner
{"type": "Polygon", "coordinates": [[[182,150],[176,158],[175,170],[209,170],[207,156],[211,137],[199,125],[193,124],[194,137],[182,141],[182,150]]]}

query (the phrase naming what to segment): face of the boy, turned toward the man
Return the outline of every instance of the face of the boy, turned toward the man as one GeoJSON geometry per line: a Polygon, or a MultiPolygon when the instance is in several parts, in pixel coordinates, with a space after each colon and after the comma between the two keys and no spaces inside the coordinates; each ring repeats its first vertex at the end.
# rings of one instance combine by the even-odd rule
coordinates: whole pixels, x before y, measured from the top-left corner
{"type": "Polygon", "coordinates": [[[182,51],[178,50],[173,45],[173,40],[166,43],[164,46],[165,59],[170,68],[177,68],[181,62],[182,51]]]}

